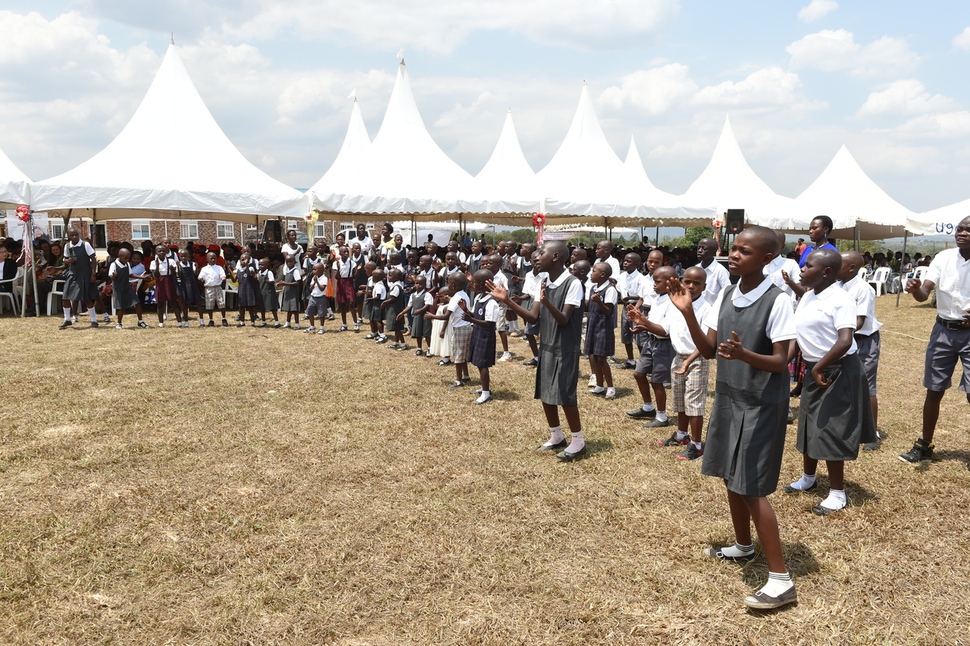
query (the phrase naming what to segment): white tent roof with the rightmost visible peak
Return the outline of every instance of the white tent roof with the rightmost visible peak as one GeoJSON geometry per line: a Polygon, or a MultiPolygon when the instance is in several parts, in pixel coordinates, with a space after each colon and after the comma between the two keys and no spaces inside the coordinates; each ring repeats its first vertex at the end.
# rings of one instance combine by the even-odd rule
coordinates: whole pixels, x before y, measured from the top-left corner
{"type": "Polygon", "coordinates": [[[833,238],[901,236],[906,219],[915,215],[879,188],[845,146],[795,201],[813,215],[832,218],[833,238]]]}

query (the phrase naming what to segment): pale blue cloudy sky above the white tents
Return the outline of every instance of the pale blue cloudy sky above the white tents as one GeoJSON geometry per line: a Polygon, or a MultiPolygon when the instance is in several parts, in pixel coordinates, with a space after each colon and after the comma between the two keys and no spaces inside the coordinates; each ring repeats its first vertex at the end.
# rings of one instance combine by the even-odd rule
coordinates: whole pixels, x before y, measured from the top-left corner
{"type": "Polygon", "coordinates": [[[967,2],[5,0],[0,24],[0,148],[33,179],[124,127],[174,31],[226,134],[294,186],[332,162],[351,90],[377,133],[403,48],[429,131],[471,173],[509,107],[542,168],[585,80],[617,154],[633,136],[670,192],[729,114],[784,195],[846,144],[911,209],[970,197],[967,2]]]}

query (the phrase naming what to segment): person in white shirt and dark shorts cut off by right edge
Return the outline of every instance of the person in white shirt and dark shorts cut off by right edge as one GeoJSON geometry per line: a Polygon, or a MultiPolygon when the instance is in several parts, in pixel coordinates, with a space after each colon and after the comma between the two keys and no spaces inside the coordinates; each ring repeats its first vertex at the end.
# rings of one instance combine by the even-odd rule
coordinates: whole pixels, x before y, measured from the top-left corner
{"type": "Polygon", "coordinates": [[[918,464],[933,459],[933,433],[940,417],[943,393],[952,385],[957,359],[963,363],[960,390],[970,403],[970,216],[960,220],[953,235],[956,249],[944,249],[923,274],[906,282],[906,291],[918,302],[925,302],[936,289],[936,324],[926,346],[923,368],[923,434],[913,448],[899,456],[903,462],[918,464]]]}

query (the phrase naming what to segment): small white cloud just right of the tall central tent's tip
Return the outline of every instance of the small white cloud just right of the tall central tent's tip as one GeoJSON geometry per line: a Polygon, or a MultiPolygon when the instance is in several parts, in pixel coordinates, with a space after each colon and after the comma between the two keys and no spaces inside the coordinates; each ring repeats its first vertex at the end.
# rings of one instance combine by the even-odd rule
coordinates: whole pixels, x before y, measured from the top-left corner
{"type": "Polygon", "coordinates": [[[612,109],[633,107],[649,115],[663,114],[697,92],[686,65],[671,63],[627,74],[619,86],[606,88],[600,103],[612,109]]]}

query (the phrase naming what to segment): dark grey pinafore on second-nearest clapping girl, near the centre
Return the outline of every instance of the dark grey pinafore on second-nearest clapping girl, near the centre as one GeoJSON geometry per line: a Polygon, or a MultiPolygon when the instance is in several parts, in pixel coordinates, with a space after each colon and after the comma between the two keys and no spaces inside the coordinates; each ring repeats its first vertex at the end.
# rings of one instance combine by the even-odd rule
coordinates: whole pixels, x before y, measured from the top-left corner
{"type": "MultiPolygon", "coordinates": [[[[565,270],[563,270],[565,271],[565,270]]],[[[568,274],[561,285],[546,282],[546,297],[562,311],[566,294],[573,281],[568,274]]],[[[539,367],[536,370],[535,398],[552,406],[576,406],[576,384],[579,382],[580,336],[583,332],[583,308],[574,307],[566,325],[559,325],[544,305],[539,306],[539,367]]]]}

